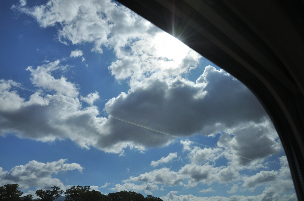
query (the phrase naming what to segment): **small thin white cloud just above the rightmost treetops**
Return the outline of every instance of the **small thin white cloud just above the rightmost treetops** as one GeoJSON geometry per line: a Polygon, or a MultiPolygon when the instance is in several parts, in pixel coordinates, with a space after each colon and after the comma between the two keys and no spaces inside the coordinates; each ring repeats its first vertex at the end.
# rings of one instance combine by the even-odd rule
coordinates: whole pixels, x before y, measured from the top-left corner
{"type": "Polygon", "coordinates": [[[135,191],[135,192],[141,192],[144,191],[146,194],[152,194],[152,191],[155,191],[158,189],[158,186],[154,183],[143,183],[141,185],[136,185],[134,183],[124,183],[123,185],[116,184],[114,188],[111,188],[111,190],[115,191],[135,191]]]}

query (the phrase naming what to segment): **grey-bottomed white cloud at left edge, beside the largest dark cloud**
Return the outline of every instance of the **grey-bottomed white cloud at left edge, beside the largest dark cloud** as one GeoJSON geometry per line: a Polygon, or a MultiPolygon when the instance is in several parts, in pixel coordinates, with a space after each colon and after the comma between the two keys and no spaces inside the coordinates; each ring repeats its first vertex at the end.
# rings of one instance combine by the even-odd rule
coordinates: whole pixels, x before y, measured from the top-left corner
{"type": "MultiPolygon", "coordinates": [[[[81,147],[94,145],[100,132],[98,127],[105,118],[99,114],[96,106],[81,108],[78,88],[65,77],[54,78],[52,71],[62,68],[60,61],[50,62],[27,68],[32,75],[32,82],[39,90],[29,97],[28,101],[12,91],[11,81],[0,84],[0,133],[16,133],[19,137],[36,140],[54,141],[70,138],[81,147]],[[43,95],[44,89],[54,92],[43,95]],[[83,133],[87,133],[86,136],[83,133]]],[[[91,99],[92,101],[92,99],[91,99]]]]}

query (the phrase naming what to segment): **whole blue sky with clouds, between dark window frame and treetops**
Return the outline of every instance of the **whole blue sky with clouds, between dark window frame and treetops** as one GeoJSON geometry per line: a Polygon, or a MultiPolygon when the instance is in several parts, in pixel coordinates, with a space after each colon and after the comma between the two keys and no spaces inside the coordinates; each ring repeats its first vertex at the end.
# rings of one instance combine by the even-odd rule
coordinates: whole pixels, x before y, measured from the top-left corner
{"type": "Polygon", "coordinates": [[[254,95],[113,1],[1,2],[0,185],[296,200],[254,95]]]}

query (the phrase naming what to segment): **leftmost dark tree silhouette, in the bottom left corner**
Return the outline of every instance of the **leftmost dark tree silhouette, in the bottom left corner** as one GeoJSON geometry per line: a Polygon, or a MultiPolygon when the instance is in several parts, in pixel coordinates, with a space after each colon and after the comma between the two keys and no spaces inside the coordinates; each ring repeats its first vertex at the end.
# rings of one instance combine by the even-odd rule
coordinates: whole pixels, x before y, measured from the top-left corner
{"type": "Polygon", "coordinates": [[[0,201],[19,201],[23,194],[18,190],[18,183],[0,186],[0,201]]]}

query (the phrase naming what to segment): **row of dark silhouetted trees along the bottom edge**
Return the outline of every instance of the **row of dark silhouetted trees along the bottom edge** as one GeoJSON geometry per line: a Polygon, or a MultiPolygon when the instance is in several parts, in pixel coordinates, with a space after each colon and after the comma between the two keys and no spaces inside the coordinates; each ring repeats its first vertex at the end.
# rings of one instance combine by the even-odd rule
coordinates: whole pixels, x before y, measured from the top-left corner
{"type": "MultiPolygon", "coordinates": [[[[33,195],[22,196],[22,192],[18,190],[18,184],[6,184],[0,186],[0,201],[30,201],[33,195]]],[[[53,186],[53,190],[37,190],[36,196],[40,197],[40,201],[53,201],[62,193],[65,193],[65,201],[163,201],[162,199],[148,195],[144,197],[140,193],[132,191],[120,191],[109,193],[107,196],[99,191],[90,190],[90,186],[73,186],[65,192],[59,187],[53,186]]]]}

